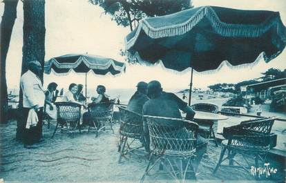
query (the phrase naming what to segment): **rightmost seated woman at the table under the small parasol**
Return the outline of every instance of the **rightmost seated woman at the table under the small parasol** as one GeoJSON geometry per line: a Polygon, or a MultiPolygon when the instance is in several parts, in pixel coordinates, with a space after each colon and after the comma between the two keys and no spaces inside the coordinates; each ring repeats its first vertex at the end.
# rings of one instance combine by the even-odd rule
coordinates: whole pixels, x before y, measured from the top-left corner
{"type": "MultiPolygon", "coordinates": [[[[92,104],[99,104],[98,106],[93,107],[93,110],[106,110],[109,107],[109,104],[104,104],[109,102],[108,95],[105,94],[106,88],[103,85],[98,85],[96,88],[97,93],[99,94],[97,98],[92,97],[92,104]],[[103,104],[103,105],[102,105],[103,104]]],[[[90,114],[88,112],[84,113],[82,119],[82,125],[86,126],[90,122],[90,114]]]]}

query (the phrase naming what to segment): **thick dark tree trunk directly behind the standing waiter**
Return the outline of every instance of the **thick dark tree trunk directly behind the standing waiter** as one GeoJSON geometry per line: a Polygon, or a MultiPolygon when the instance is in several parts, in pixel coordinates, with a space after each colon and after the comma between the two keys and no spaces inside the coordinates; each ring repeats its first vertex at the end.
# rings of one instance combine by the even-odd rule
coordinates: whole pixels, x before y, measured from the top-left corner
{"type": "MultiPolygon", "coordinates": [[[[45,0],[23,1],[23,59],[21,75],[28,70],[29,61],[39,61],[44,69],[45,57],[45,0]]],[[[39,76],[43,81],[43,73],[39,76]]],[[[19,108],[23,106],[20,87],[19,108]]],[[[17,139],[22,139],[25,122],[19,117],[17,122],[17,139]]]]}

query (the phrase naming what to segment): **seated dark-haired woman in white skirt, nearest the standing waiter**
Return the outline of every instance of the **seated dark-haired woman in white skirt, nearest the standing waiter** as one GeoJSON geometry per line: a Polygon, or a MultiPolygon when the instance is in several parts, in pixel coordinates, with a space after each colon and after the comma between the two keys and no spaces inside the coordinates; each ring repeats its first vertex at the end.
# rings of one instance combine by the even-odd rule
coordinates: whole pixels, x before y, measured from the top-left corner
{"type": "Polygon", "coordinates": [[[55,82],[48,84],[48,89],[45,92],[46,99],[45,99],[44,111],[53,119],[57,119],[57,109],[55,107],[55,104],[53,104],[53,102],[55,102],[55,100],[57,99],[58,93],[59,90],[57,90],[57,84],[55,82]]]}

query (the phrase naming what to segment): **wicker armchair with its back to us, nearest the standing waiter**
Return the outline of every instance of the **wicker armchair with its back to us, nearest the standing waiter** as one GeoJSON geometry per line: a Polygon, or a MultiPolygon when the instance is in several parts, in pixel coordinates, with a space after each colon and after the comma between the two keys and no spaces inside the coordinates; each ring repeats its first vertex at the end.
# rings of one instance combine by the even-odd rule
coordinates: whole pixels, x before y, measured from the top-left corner
{"type": "Polygon", "coordinates": [[[75,129],[78,127],[79,132],[79,120],[82,106],[73,102],[55,102],[55,106],[57,107],[57,125],[55,127],[55,131],[53,133],[52,138],[54,137],[58,126],[61,128],[65,127],[68,131],[71,131],[72,134],[75,132],[75,129]]]}

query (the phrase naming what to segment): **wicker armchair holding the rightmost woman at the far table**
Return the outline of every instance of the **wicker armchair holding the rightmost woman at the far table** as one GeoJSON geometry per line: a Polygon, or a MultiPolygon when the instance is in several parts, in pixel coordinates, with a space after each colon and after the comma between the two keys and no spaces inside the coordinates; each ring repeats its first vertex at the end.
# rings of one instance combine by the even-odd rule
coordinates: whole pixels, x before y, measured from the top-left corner
{"type": "Polygon", "coordinates": [[[99,133],[106,130],[106,123],[108,123],[113,131],[113,105],[114,102],[102,102],[99,104],[91,103],[88,105],[88,113],[90,115],[90,122],[88,126],[88,133],[90,128],[95,128],[96,137],[99,133]]]}

